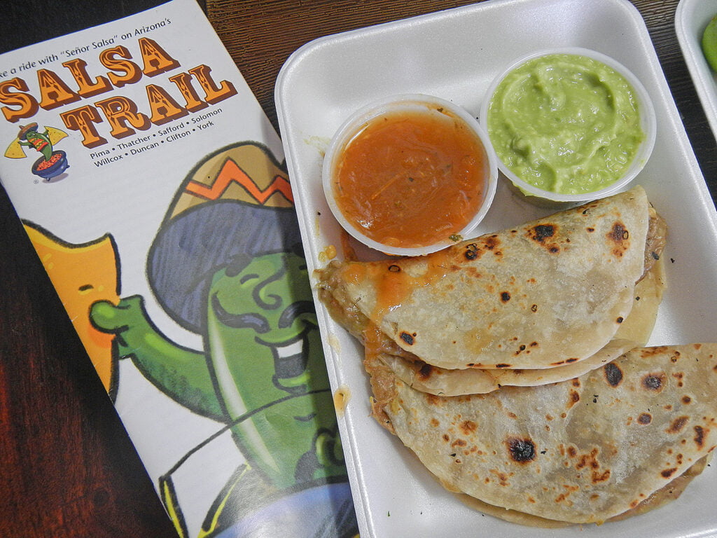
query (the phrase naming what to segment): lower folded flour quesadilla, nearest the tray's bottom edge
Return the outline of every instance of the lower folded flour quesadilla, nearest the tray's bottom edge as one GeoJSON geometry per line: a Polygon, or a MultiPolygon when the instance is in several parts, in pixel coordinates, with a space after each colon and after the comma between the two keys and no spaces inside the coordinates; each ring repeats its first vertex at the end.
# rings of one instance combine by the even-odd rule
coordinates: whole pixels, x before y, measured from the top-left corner
{"type": "Polygon", "coordinates": [[[717,344],[637,348],[564,382],[457,397],[414,390],[375,357],[366,368],[379,423],[447,489],[511,521],[659,506],[717,443],[717,344]]]}

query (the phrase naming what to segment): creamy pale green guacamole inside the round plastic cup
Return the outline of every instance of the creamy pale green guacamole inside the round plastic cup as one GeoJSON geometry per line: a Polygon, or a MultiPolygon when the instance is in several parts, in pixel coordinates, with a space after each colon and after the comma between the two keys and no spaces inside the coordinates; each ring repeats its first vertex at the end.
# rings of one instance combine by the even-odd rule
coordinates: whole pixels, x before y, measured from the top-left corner
{"type": "Polygon", "coordinates": [[[503,164],[526,183],[560,194],[608,187],[645,138],[630,83],[581,55],[536,57],[509,72],[487,120],[503,164]]]}

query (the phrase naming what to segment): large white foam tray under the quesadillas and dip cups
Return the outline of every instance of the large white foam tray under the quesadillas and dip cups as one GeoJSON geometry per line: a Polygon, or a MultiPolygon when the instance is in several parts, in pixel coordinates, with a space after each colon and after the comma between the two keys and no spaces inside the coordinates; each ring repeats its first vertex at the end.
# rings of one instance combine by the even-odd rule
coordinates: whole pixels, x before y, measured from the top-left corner
{"type": "MultiPolygon", "coordinates": [[[[309,270],[326,264],[330,245],[341,256],[341,233],[320,173],[323,150],[349,114],[386,95],[428,93],[477,115],[495,75],[515,58],[547,47],[612,56],[650,93],[657,140],[634,184],[645,187],[670,226],[669,288],[650,344],[713,341],[717,214],[647,28],[627,0],[492,0],[323,37],[298,49],[282,67],[275,97],[309,270]]],[[[503,179],[476,235],[548,212],[516,199],[503,179]]],[[[714,465],[663,509],[600,527],[528,529],[467,508],[369,416],[361,346],[320,303],[317,311],[332,388],[351,392],[338,423],[362,538],[717,536],[714,465]]]]}

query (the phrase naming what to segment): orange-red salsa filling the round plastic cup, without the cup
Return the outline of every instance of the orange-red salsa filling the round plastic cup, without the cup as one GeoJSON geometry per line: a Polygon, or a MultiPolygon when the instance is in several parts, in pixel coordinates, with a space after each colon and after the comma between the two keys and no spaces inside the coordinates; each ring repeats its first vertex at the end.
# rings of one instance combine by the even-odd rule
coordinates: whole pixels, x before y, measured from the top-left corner
{"type": "Polygon", "coordinates": [[[488,157],[465,121],[437,107],[372,119],[346,144],[333,175],[336,204],[391,247],[457,234],[483,202],[488,157]]]}

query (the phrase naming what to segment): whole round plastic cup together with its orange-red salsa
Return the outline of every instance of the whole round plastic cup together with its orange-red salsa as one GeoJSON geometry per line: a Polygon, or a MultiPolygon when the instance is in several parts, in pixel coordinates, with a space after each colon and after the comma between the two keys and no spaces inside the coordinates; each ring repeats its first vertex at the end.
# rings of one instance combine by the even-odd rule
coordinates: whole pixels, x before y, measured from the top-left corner
{"type": "Polygon", "coordinates": [[[351,115],[322,174],[331,212],[350,235],[382,253],[423,255],[470,237],[493,202],[498,166],[473,115],[404,94],[351,115]]]}

